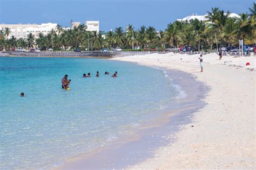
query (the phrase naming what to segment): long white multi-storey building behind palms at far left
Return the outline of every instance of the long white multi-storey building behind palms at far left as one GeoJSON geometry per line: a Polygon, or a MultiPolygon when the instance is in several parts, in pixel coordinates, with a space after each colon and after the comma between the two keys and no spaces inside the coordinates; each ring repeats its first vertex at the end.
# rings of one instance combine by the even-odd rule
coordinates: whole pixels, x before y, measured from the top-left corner
{"type": "Polygon", "coordinates": [[[11,34],[8,38],[12,36],[19,38],[26,38],[29,33],[32,33],[35,37],[38,37],[39,33],[44,35],[48,34],[52,29],[55,29],[57,24],[53,23],[43,23],[43,24],[0,24],[0,30],[4,30],[8,27],[11,30],[11,34]]]}

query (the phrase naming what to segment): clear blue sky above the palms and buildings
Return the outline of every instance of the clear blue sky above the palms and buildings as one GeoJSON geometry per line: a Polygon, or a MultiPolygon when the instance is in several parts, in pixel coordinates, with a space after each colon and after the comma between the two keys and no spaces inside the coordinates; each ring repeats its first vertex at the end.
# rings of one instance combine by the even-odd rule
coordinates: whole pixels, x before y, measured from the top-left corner
{"type": "Polygon", "coordinates": [[[132,24],[164,30],[170,22],[192,13],[205,15],[212,7],[246,13],[253,0],[0,0],[0,23],[58,23],[99,20],[101,31],[132,24]]]}

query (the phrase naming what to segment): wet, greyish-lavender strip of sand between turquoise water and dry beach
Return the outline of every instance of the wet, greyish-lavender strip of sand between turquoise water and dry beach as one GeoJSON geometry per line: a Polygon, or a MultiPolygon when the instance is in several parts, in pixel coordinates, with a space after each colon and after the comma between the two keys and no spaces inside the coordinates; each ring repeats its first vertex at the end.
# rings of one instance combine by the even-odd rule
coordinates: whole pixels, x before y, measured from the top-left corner
{"type": "MultiPolygon", "coordinates": [[[[172,79],[176,77],[174,84],[177,84],[178,81],[178,86],[183,85],[180,77],[184,78],[183,81],[194,84],[194,89],[204,86],[185,72],[163,70],[162,68],[154,69],[161,69],[164,73],[171,72],[172,79]]],[[[193,113],[205,105],[205,103],[201,103],[200,98],[208,90],[206,87],[202,89],[204,92],[197,91],[197,93],[194,93],[194,91],[189,91],[187,85],[184,84],[183,86],[181,88],[186,90],[188,96],[184,99],[177,99],[177,102],[174,101],[168,109],[165,109],[163,115],[144,122],[137,130],[134,129],[135,131],[132,134],[118,138],[106,147],[68,159],[64,165],[60,165],[56,169],[83,169],[85,167],[86,169],[122,169],[153,157],[153,151],[167,145],[169,142],[174,142],[176,140],[175,134],[180,130],[180,126],[189,123],[193,113]],[[166,131],[166,129],[169,129],[169,131],[166,131]],[[149,141],[151,141],[151,144],[148,144],[149,141]],[[106,159],[106,157],[108,158],[106,159]]]]}

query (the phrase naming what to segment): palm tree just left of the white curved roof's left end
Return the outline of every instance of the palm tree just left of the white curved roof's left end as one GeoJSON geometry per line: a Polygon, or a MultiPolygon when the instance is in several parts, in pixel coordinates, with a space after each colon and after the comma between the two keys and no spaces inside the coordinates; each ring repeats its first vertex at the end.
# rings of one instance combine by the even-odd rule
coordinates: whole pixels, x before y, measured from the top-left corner
{"type": "Polygon", "coordinates": [[[173,46],[176,46],[176,40],[179,37],[179,31],[176,27],[176,24],[172,24],[172,23],[168,24],[164,33],[165,33],[166,43],[169,45],[172,44],[173,46]]]}

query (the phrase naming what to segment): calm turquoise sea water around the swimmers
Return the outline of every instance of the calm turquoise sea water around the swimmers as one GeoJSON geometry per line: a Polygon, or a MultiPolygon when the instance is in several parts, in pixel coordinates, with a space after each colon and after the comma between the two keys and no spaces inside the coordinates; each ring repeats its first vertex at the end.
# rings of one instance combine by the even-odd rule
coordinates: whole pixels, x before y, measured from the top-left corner
{"type": "Polygon", "coordinates": [[[180,94],[163,70],[103,59],[0,57],[0,76],[1,169],[49,168],[92,152],[180,94]],[[70,90],[61,88],[65,74],[70,90]]]}

